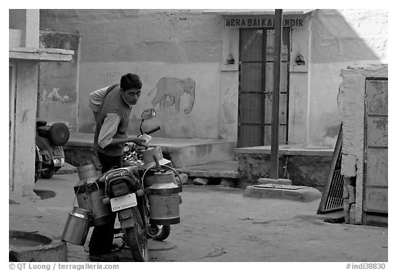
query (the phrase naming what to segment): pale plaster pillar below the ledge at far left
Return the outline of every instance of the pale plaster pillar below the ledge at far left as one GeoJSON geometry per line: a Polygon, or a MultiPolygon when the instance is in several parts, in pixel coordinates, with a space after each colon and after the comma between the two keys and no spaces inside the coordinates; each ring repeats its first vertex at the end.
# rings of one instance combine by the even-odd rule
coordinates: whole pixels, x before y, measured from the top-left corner
{"type": "Polygon", "coordinates": [[[37,62],[15,62],[17,90],[14,119],[14,168],[9,189],[21,195],[32,195],[34,188],[34,151],[36,131],[37,62]]]}

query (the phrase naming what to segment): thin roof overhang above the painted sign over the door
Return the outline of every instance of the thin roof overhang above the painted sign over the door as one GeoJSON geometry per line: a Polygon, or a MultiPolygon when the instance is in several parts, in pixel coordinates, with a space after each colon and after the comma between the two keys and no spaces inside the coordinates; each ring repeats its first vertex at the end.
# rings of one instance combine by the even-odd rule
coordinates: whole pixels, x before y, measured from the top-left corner
{"type": "MultiPolygon", "coordinates": [[[[312,10],[283,10],[283,15],[305,15],[312,10]]],[[[241,15],[274,15],[275,10],[204,10],[205,15],[241,16],[241,15]]]]}

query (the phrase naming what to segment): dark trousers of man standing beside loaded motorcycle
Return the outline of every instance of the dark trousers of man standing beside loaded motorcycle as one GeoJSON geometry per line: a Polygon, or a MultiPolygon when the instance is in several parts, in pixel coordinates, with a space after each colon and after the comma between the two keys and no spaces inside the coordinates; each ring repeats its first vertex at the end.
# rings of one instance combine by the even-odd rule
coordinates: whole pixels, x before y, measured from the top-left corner
{"type": "MultiPolygon", "coordinates": [[[[121,168],[123,165],[122,157],[110,157],[108,155],[98,152],[98,158],[102,165],[102,174],[113,167],[121,168]]],[[[110,223],[104,225],[97,225],[92,230],[92,235],[88,247],[90,254],[106,254],[111,250],[113,243],[113,229],[114,221],[116,220],[116,213],[112,212],[110,223]]]]}

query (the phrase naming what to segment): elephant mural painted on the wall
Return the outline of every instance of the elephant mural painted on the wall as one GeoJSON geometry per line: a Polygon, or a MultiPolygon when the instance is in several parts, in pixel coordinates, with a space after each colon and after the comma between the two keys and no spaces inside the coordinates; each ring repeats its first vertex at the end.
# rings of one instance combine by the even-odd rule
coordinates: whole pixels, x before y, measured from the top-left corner
{"type": "MultiPolygon", "coordinates": [[[[192,112],[194,99],[196,99],[194,94],[196,82],[194,82],[192,78],[180,79],[176,77],[163,77],[159,79],[153,90],[156,88],[157,94],[152,99],[153,106],[156,106],[157,103],[160,103],[160,110],[164,110],[165,106],[175,106],[176,111],[179,112],[181,108],[181,96],[183,93],[186,93],[190,98],[190,103],[184,112],[185,114],[192,112]]],[[[149,92],[149,95],[153,92],[153,90],[149,92]]]]}

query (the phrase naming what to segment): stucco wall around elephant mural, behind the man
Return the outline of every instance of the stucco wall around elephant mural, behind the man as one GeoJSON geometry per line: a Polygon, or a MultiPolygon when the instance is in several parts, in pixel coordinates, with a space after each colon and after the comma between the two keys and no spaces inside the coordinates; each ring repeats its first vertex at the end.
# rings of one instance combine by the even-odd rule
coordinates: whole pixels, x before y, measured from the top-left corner
{"type": "Polygon", "coordinates": [[[219,137],[222,18],[202,16],[201,10],[41,10],[41,28],[79,32],[78,130],[92,132],[88,108],[93,90],[118,83],[132,72],[143,81],[141,99],[133,109],[130,132],[137,131],[141,112],[153,107],[156,83],[163,77],[191,78],[196,84],[192,112],[181,95],[181,110],[155,104],[158,116],[147,126],[161,124],[163,137],[219,137]]]}

